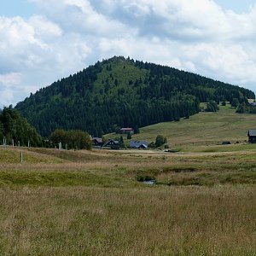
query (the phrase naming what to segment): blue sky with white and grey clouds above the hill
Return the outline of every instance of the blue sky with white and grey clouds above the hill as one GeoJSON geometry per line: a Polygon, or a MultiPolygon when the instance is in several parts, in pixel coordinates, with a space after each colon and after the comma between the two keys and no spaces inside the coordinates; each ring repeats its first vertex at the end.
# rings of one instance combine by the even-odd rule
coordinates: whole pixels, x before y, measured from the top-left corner
{"type": "Polygon", "coordinates": [[[113,55],[256,91],[256,0],[1,0],[0,108],[113,55]]]}

